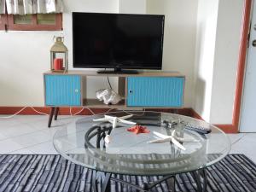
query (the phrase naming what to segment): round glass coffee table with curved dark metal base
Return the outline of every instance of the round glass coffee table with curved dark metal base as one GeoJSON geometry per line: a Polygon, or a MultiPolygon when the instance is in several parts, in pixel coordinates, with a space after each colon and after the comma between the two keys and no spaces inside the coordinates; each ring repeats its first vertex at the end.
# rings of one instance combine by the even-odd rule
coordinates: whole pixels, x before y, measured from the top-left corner
{"type": "Polygon", "coordinates": [[[118,123],[113,128],[110,122],[95,122],[103,118],[97,114],[77,119],[73,124],[56,131],[55,149],[67,160],[93,171],[92,185],[98,190],[98,174],[104,174],[101,191],[110,191],[110,181],[129,185],[131,188],[148,191],[167,182],[169,190],[175,191],[175,175],[191,172],[197,191],[206,191],[206,167],[222,160],[230,151],[230,139],[214,125],[173,113],[159,112],[114,112],[112,117],[131,115],[126,119],[147,127],[148,133],[136,134],[127,131],[133,125],[118,123]],[[186,125],[200,125],[211,129],[209,134],[191,131],[186,125]],[[166,139],[163,143],[150,143],[164,135],[182,138],[182,148],[166,139]],[[161,135],[160,135],[161,134],[161,135]],[[106,143],[108,136],[110,143],[106,143]],[[118,176],[158,176],[154,182],[141,185],[127,182],[118,176]]]}

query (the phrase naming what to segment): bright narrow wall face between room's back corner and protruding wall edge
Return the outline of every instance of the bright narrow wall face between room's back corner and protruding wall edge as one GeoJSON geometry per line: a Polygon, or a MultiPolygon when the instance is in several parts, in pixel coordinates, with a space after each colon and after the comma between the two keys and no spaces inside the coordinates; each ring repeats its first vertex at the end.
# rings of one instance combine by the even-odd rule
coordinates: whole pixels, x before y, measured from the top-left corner
{"type": "Polygon", "coordinates": [[[195,97],[193,108],[210,120],[218,0],[199,0],[195,47],[195,97]]]}

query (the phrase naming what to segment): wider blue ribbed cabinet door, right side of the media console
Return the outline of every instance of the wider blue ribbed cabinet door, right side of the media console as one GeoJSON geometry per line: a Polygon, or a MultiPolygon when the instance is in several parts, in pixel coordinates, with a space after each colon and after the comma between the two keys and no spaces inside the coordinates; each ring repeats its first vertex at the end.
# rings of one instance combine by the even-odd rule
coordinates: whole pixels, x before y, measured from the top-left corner
{"type": "Polygon", "coordinates": [[[183,85],[182,77],[128,77],[127,106],[180,108],[183,85]]]}

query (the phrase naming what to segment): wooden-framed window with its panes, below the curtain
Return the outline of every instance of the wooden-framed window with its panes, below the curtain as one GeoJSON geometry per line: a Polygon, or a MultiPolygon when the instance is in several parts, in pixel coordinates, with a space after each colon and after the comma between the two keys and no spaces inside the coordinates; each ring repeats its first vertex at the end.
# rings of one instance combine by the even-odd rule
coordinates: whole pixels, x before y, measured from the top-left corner
{"type": "Polygon", "coordinates": [[[62,14],[0,15],[0,30],[61,31],[62,14]]]}

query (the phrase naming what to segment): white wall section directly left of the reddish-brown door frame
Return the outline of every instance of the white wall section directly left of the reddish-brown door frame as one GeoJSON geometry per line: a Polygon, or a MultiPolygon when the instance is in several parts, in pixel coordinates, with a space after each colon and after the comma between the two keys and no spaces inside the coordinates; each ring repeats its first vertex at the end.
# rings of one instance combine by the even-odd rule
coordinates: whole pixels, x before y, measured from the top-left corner
{"type": "Polygon", "coordinates": [[[232,123],[242,9],[243,1],[219,0],[210,116],[214,124],[232,123]]]}

